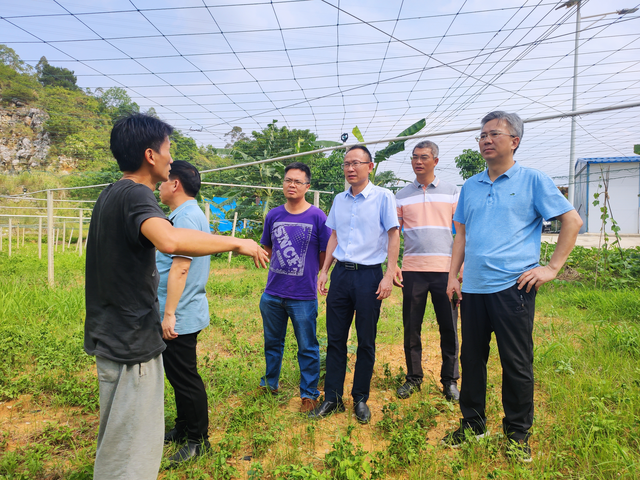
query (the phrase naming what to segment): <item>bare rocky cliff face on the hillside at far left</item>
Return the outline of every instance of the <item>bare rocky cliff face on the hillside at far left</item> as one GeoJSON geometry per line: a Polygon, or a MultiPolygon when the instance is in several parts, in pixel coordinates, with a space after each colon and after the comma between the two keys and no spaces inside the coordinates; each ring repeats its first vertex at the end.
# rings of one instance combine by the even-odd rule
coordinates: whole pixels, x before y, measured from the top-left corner
{"type": "Polygon", "coordinates": [[[0,107],[0,172],[52,167],[47,160],[51,142],[44,130],[48,119],[44,110],[20,103],[0,107]]]}

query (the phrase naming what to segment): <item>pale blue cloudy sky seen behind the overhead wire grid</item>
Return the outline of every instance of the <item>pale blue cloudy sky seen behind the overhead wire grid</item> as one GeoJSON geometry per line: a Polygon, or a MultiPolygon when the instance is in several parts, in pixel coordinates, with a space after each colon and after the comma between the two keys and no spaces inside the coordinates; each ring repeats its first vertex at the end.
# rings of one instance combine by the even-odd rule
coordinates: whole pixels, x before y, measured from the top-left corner
{"type": "MultiPolygon", "coordinates": [[[[577,109],[640,99],[638,0],[582,0],[577,109]],[[620,4],[618,5],[618,2],[620,4]],[[636,2],[636,3],[623,3],[636,2]]],[[[73,70],[82,88],[122,87],[199,144],[271,121],[373,151],[426,119],[437,174],[477,149],[493,110],[523,119],[572,109],[576,6],[510,0],[22,0],[0,2],[0,44],[73,70]],[[438,135],[468,129],[477,132],[438,135]]],[[[516,160],[569,175],[568,118],[526,123],[516,160]]],[[[413,178],[407,151],[381,166],[413,178]]],[[[640,107],[582,115],[576,158],[633,155],[640,107]]]]}

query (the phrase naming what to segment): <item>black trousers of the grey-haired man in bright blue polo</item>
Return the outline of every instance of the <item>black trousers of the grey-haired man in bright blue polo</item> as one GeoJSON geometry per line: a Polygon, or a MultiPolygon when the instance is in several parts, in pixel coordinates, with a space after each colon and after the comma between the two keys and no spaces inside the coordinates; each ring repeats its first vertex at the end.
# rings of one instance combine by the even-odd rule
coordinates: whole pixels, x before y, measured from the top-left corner
{"type": "Polygon", "coordinates": [[[535,289],[529,293],[517,285],[497,293],[464,293],[462,317],[463,423],[486,423],[487,359],[491,332],[495,332],[502,364],[502,406],[505,434],[527,438],[533,423],[533,317],[535,289]]]}

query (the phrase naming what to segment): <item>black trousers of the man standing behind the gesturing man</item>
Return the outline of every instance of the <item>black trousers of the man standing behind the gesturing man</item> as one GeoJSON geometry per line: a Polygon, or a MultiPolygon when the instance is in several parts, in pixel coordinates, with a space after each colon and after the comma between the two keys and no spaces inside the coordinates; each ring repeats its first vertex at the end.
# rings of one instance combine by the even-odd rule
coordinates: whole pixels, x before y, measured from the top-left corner
{"type": "Polygon", "coordinates": [[[209,437],[207,392],[198,373],[196,357],[198,333],[166,340],[167,348],[162,352],[164,371],[175,392],[176,429],[186,431],[187,438],[194,442],[209,437]]]}

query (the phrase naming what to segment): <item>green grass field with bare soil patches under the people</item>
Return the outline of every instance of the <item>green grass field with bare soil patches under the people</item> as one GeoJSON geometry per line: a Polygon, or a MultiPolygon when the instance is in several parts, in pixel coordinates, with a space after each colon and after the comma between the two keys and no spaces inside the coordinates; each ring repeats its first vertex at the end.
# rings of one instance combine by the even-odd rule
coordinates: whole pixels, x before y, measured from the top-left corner
{"type": "MultiPolygon", "coordinates": [[[[543,247],[543,257],[549,250],[543,247]]],[[[564,274],[570,280],[539,292],[534,461],[528,465],[504,455],[495,344],[487,395],[491,435],[460,450],[439,445],[460,414],[439,392],[438,334],[430,309],[423,334],[427,381],[409,400],[395,397],[404,367],[398,289],[383,303],[369,425],[359,425],[349,408],[317,422],[298,413],[291,331],[280,395],[256,396],[264,369],[258,300],[266,272],[241,258],[231,266],[214,259],[211,326],[199,343],[214,448],[196,462],[163,469],[159,478],[639,478],[640,289],[634,269],[640,251],[627,254],[624,268],[596,279],[596,252],[577,248],[564,274]]],[[[56,256],[55,267],[57,284],[49,288],[46,261],[38,260],[33,243],[11,258],[6,246],[0,253],[2,479],[92,477],[98,388],[94,359],[82,350],[84,260],[66,252],[56,256]]],[[[321,343],[324,323],[321,300],[321,343]]],[[[349,383],[348,375],[346,392],[349,383]]],[[[168,383],[165,396],[170,426],[175,407],[168,383]]],[[[166,449],[165,457],[174,451],[166,449]]]]}

